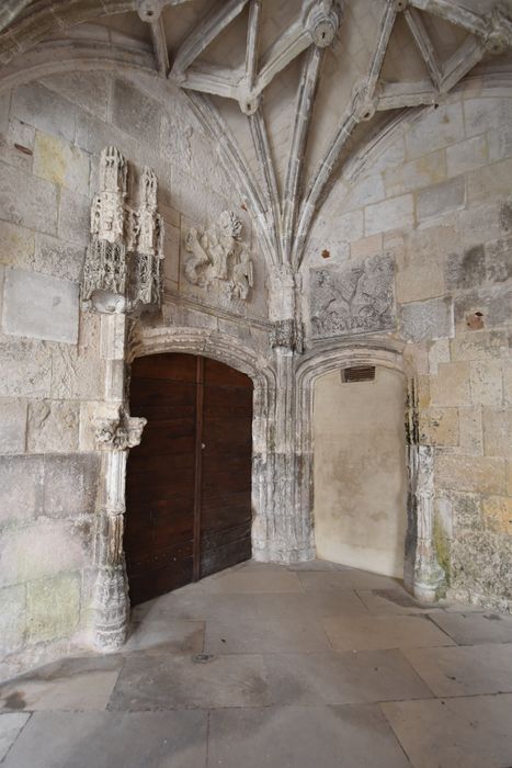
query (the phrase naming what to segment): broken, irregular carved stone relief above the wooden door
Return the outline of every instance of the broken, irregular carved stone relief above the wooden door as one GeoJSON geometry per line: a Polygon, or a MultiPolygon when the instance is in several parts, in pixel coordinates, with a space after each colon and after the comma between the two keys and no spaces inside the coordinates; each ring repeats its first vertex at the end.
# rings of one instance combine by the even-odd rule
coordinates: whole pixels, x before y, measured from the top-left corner
{"type": "Polygon", "coordinates": [[[252,260],[241,240],[242,223],[231,212],[224,211],[217,224],[200,231],[192,227],[185,238],[190,253],[185,276],[193,285],[208,287],[214,281],[228,284],[229,297],[244,301],[254,284],[252,260]]]}

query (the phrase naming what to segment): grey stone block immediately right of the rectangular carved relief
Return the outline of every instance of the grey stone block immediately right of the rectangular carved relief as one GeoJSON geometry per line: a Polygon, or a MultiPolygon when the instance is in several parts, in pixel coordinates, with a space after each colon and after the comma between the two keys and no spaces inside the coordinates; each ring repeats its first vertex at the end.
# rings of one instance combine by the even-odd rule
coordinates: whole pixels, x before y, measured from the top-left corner
{"type": "Polygon", "coordinates": [[[410,341],[435,340],[454,336],[451,296],[411,302],[401,307],[402,334],[410,341]]]}

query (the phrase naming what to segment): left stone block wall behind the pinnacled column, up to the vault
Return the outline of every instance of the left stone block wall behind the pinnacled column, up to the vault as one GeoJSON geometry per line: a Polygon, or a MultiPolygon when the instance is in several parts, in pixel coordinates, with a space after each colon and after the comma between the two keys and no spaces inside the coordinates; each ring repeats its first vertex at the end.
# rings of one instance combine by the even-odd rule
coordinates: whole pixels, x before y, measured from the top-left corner
{"type": "Polygon", "coordinates": [[[252,253],[254,289],[232,306],[183,276],[186,231],[224,210],[257,244],[178,93],[99,72],[56,75],[0,97],[0,656],[24,648],[36,662],[84,641],[90,624],[100,455],[89,421],[107,383],[100,317],[81,310],[79,280],[100,151],[114,144],[158,176],[167,303],[147,323],[212,327],[264,347],[265,270],[252,253]]]}

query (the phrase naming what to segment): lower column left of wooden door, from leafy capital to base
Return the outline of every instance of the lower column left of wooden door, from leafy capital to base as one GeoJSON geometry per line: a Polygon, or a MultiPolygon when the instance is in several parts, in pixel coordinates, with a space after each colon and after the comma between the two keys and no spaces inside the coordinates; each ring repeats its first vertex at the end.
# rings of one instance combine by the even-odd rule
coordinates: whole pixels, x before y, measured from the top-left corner
{"type": "Polygon", "coordinates": [[[94,644],[113,651],[124,644],[129,620],[123,552],[126,461],[128,450],[140,442],[146,419],[129,417],[120,406],[115,417],[98,418],[95,425],[98,449],[104,452],[104,498],[96,537],[94,644]]]}

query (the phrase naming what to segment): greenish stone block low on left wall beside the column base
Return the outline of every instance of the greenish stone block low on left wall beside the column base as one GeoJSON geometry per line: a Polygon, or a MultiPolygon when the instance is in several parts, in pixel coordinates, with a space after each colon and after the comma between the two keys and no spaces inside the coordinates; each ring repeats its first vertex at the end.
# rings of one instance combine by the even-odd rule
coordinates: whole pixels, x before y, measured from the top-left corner
{"type": "Polygon", "coordinates": [[[60,574],[26,585],[29,640],[41,643],[68,637],[80,619],[80,576],[60,574]]]}

